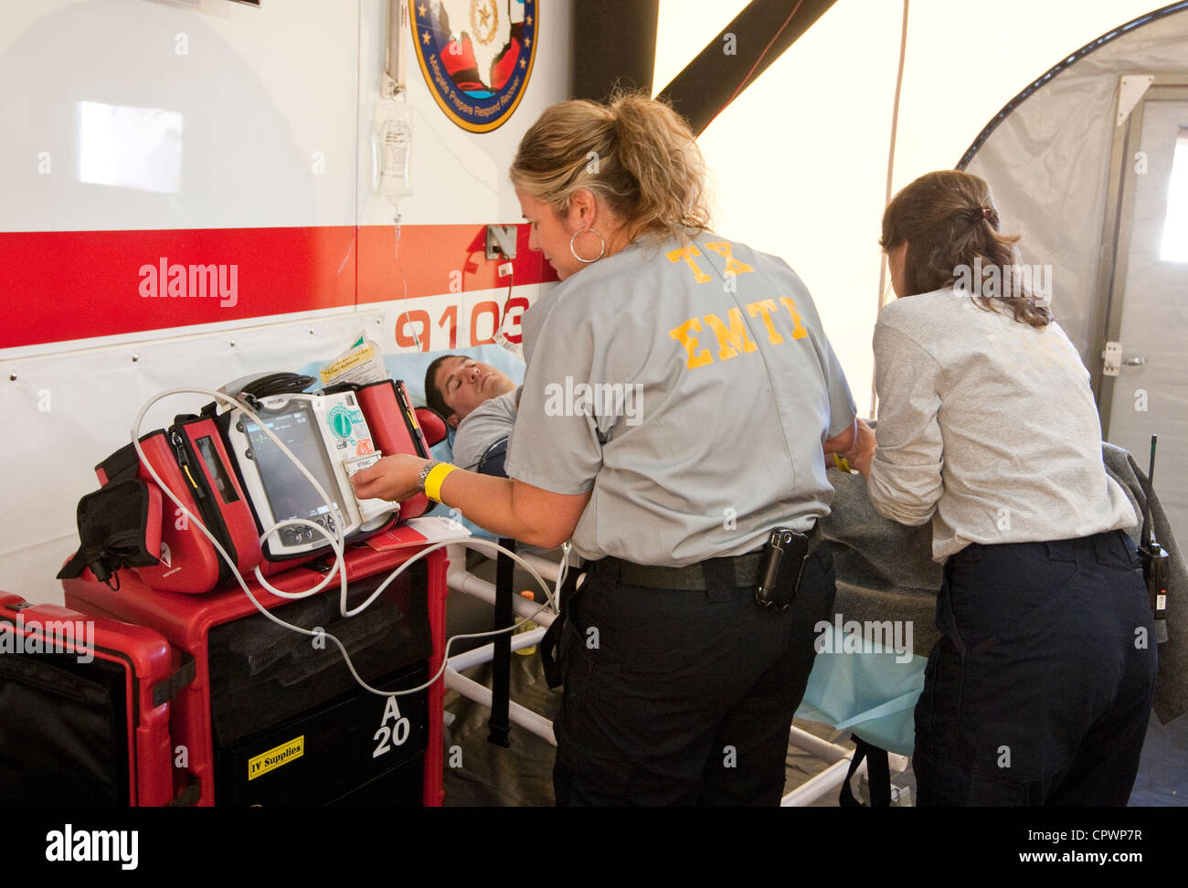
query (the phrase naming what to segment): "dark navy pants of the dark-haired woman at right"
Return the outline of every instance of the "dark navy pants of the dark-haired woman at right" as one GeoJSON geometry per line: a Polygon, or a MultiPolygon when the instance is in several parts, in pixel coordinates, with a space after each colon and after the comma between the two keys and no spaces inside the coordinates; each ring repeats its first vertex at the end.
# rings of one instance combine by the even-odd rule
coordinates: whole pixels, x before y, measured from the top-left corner
{"type": "Polygon", "coordinates": [[[971,545],[944,565],[916,705],[920,805],[1125,805],[1156,645],[1121,531],[971,545]]]}

